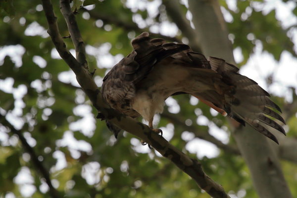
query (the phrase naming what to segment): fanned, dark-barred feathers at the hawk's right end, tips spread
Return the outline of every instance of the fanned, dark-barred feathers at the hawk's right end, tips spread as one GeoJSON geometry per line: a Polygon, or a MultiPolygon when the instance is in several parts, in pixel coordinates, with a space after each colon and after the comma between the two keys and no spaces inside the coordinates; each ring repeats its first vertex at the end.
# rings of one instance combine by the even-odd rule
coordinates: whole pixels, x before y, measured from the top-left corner
{"type": "MultiPolygon", "coordinates": [[[[195,57],[195,54],[191,55],[195,57]]],[[[198,56],[201,58],[200,54],[198,56]]],[[[215,86],[218,90],[215,94],[203,93],[202,99],[199,96],[195,97],[201,99],[202,102],[221,114],[227,113],[228,116],[242,125],[249,124],[278,144],[276,137],[265,128],[265,125],[271,126],[285,135],[286,133],[283,127],[267,117],[267,115],[280,120],[284,124],[285,121],[274,111],[281,112],[281,109],[268,98],[270,95],[255,81],[237,73],[239,69],[236,66],[216,57],[209,57],[208,61],[211,69],[222,76],[221,83],[217,83],[215,86]],[[222,86],[222,84],[224,85],[222,86]]]]}

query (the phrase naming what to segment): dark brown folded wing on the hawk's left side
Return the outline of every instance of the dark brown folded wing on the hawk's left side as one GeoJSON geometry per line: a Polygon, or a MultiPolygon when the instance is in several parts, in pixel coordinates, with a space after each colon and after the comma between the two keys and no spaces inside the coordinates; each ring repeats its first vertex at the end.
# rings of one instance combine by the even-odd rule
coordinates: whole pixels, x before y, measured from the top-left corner
{"type": "Polygon", "coordinates": [[[101,92],[112,107],[138,117],[139,113],[131,108],[135,97],[136,85],[146,78],[153,66],[162,59],[181,50],[190,49],[184,44],[174,44],[174,49],[165,49],[163,39],[151,39],[144,32],[132,41],[134,50],[104,77],[101,92]]]}

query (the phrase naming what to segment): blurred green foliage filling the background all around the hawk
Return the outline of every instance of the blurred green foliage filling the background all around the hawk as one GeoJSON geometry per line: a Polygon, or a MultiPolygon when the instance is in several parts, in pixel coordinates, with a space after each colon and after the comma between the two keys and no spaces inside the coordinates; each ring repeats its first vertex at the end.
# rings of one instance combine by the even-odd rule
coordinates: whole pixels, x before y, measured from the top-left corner
{"type": "MultiPolygon", "coordinates": [[[[145,8],[130,9],[125,0],[85,0],[84,5],[94,2],[96,6],[92,7],[92,11],[127,24],[135,24],[136,16],[148,21],[148,26],[164,21],[164,13],[150,16],[145,8]]],[[[253,53],[256,41],[261,42],[263,50],[272,54],[276,60],[280,59],[284,50],[296,56],[292,38],[288,37],[290,28],[282,28],[275,17],[275,10],[264,14],[253,8],[253,0],[237,1],[237,10],[229,9],[225,0],[220,2],[233,17],[228,28],[234,35],[234,48],[242,49],[244,60],[241,64],[245,64],[253,53]],[[248,17],[243,18],[247,9],[250,10],[248,17]]],[[[68,36],[58,1],[52,0],[52,3],[60,33],[62,36],[68,36]]],[[[130,40],[140,32],[102,22],[100,18],[92,18],[87,11],[79,9],[82,1],[74,0],[73,3],[74,10],[75,6],[78,8],[76,18],[84,42],[96,48],[95,54],[88,50],[87,52],[89,66],[92,71],[96,68],[95,80],[100,85],[106,67],[111,66],[106,56],[127,55],[132,49],[130,40]],[[104,51],[106,48],[101,49],[104,44],[109,46],[107,51],[104,51]]],[[[186,9],[185,6],[181,7],[186,9]]],[[[24,133],[42,164],[49,170],[51,178],[56,181],[56,188],[62,195],[67,198],[209,197],[200,192],[189,176],[167,159],[159,157],[154,150],[145,153],[139,151],[142,148],[140,141],[132,135],[121,133],[118,140],[115,140],[104,122],[91,119],[90,122],[81,124],[85,114],[95,117],[97,112],[94,108],[88,113],[77,112],[79,107],[91,109],[90,102],[76,84],[67,80],[73,76],[68,66],[61,59],[54,58],[55,50],[46,33],[47,21],[40,0],[2,0],[0,8],[0,50],[7,52],[11,49],[4,49],[9,46],[22,46],[24,49],[23,52],[18,52],[20,55],[11,53],[5,57],[0,56],[0,84],[7,86],[7,89],[0,86],[0,113],[7,113],[6,119],[12,121],[15,127],[24,133]],[[20,62],[17,57],[21,57],[20,65],[17,65],[20,62]],[[37,57],[42,57],[46,65],[40,66],[40,61],[34,61],[37,57]],[[64,80],[61,80],[62,74],[66,76],[64,80]],[[13,82],[13,89],[9,89],[8,81],[13,82]],[[21,89],[25,90],[25,93],[20,98],[16,92],[21,89]],[[71,130],[74,123],[78,123],[78,130],[71,130]],[[92,124],[95,125],[94,128],[92,124]],[[90,130],[86,132],[84,129],[90,130]],[[89,145],[90,149],[79,146],[81,144],[89,145]],[[65,166],[59,167],[63,159],[65,166]],[[93,170],[91,176],[85,176],[84,173],[90,170],[93,170]]],[[[296,14],[296,8],[293,12],[296,14]]],[[[178,37],[181,38],[182,35],[178,37]]],[[[64,41],[69,49],[73,49],[70,39],[64,41]]],[[[190,98],[186,95],[175,96],[174,99],[179,103],[178,116],[181,120],[188,119],[196,125],[198,116],[204,115],[228,132],[224,128],[228,126],[228,122],[221,115],[213,116],[209,108],[201,102],[191,105],[190,98]]],[[[284,99],[275,99],[281,106],[285,105],[284,99]]],[[[166,127],[170,122],[170,119],[161,118],[158,126],[166,127]]],[[[297,136],[296,122],[297,118],[293,113],[288,119],[292,137],[297,136]]],[[[197,130],[208,133],[208,126],[196,127],[197,130]]],[[[175,125],[175,134],[170,142],[196,158],[196,153],[185,148],[188,141],[181,138],[183,132],[182,126],[175,125]]],[[[234,146],[235,143],[231,139],[229,144],[234,146]]],[[[214,158],[203,157],[201,164],[205,172],[222,184],[227,192],[238,197],[257,197],[242,157],[220,150],[219,155],[214,158]]],[[[48,198],[47,188],[42,187],[44,180],[18,137],[0,125],[0,198],[5,198],[9,193],[16,197],[25,196],[21,192],[24,184],[20,184],[21,181],[16,179],[22,167],[27,167],[33,177],[30,185],[35,187],[35,190],[30,196],[48,198]]],[[[292,172],[296,172],[296,165],[284,162],[284,170],[291,189],[294,189],[297,180],[292,172]]],[[[297,197],[296,189],[292,193],[297,197]]]]}

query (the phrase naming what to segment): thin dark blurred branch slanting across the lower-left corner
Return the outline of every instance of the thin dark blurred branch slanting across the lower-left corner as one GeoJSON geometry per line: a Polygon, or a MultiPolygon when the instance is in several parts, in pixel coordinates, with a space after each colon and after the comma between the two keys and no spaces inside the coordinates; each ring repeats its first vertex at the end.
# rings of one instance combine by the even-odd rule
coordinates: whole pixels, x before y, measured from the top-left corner
{"type": "Polygon", "coordinates": [[[1,120],[1,124],[3,126],[6,126],[10,129],[10,131],[13,134],[16,134],[23,147],[25,148],[25,150],[30,154],[32,162],[34,164],[34,166],[39,170],[39,172],[41,173],[42,177],[45,178],[46,183],[49,186],[49,194],[52,198],[59,198],[60,195],[58,193],[58,191],[53,188],[51,181],[50,181],[50,176],[49,176],[49,171],[44,167],[44,165],[42,164],[41,161],[38,160],[38,156],[35,153],[34,149],[27,143],[26,139],[23,136],[23,133],[20,130],[15,129],[6,119],[5,116],[0,114],[0,120],[1,120]]]}

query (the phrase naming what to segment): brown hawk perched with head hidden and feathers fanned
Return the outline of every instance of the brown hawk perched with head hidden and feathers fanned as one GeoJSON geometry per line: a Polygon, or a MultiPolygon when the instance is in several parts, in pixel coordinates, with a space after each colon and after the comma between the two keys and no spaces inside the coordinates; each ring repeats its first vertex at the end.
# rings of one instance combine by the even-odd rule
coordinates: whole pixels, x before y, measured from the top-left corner
{"type": "MultiPolygon", "coordinates": [[[[223,115],[278,143],[264,126],[286,135],[273,118],[285,123],[272,109],[281,109],[258,84],[238,73],[239,68],[216,57],[205,58],[188,45],[152,39],[144,32],[132,41],[133,51],[104,77],[103,98],[123,114],[142,116],[152,128],[154,114],[163,111],[164,100],[178,94],[190,94],[223,115]]],[[[119,128],[107,121],[115,136],[119,128]]]]}

